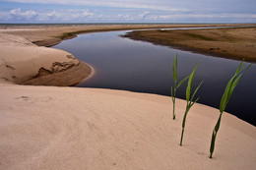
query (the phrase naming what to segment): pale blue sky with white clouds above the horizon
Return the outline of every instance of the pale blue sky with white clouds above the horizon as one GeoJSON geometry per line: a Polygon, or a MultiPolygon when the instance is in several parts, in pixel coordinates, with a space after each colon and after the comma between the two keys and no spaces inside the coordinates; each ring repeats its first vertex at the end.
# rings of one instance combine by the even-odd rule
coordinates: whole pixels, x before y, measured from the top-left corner
{"type": "Polygon", "coordinates": [[[0,0],[0,23],[256,23],[256,0],[0,0]]]}

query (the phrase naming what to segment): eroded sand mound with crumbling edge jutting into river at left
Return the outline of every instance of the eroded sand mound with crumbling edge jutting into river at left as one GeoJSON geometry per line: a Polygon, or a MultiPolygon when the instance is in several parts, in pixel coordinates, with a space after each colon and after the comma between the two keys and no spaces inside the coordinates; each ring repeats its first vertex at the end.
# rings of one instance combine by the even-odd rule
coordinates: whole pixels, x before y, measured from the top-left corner
{"type": "Polygon", "coordinates": [[[18,35],[0,33],[0,83],[75,85],[92,73],[72,54],[38,47],[18,35]]]}

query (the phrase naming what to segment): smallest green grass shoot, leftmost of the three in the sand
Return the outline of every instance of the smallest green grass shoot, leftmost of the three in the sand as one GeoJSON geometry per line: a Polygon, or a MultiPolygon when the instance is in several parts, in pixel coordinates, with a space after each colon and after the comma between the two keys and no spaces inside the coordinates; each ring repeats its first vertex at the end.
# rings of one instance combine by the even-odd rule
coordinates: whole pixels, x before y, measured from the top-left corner
{"type": "Polygon", "coordinates": [[[175,101],[176,101],[176,90],[177,88],[184,83],[184,81],[186,81],[188,79],[184,78],[182,81],[180,81],[180,83],[177,85],[177,67],[178,67],[178,63],[177,63],[177,54],[176,57],[173,59],[173,63],[172,63],[172,76],[173,76],[173,80],[174,80],[174,87],[172,90],[172,86],[171,86],[171,99],[173,102],[173,120],[175,120],[176,115],[175,115],[175,101]]]}

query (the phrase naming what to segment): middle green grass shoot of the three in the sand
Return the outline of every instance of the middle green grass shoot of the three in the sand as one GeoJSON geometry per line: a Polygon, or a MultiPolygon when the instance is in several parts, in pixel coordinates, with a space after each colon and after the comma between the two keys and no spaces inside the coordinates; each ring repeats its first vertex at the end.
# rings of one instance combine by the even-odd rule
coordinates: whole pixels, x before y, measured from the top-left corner
{"type": "Polygon", "coordinates": [[[197,92],[197,90],[199,89],[200,85],[202,85],[203,81],[197,86],[197,88],[195,89],[194,93],[192,94],[192,96],[190,97],[191,94],[191,88],[194,82],[194,77],[195,77],[195,72],[197,69],[198,64],[196,65],[196,67],[194,68],[193,72],[191,73],[191,75],[189,76],[188,79],[188,84],[187,84],[187,89],[186,89],[186,100],[187,100],[187,105],[186,105],[186,111],[184,113],[183,116],[183,122],[182,122],[182,132],[181,132],[181,139],[180,139],[180,145],[182,145],[182,141],[183,141],[183,134],[184,134],[184,130],[185,130],[185,124],[186,124],[186,118],[187,118],[187,114],[188,111],[190,110],[190,108],[199,100],[199,97],[197,99],[194,99],[194,96],[197,92]]]}

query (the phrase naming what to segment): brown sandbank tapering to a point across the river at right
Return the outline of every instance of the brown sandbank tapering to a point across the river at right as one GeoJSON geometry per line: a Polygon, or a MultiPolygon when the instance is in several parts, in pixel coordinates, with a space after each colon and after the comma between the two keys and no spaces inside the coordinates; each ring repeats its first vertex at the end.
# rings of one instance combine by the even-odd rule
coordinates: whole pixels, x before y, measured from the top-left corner
{"type": "Polygon", "coordinates": [[[124,35],[135,40],[206,55],[256,63],[256,28],[136,30],[124,35]]]}

